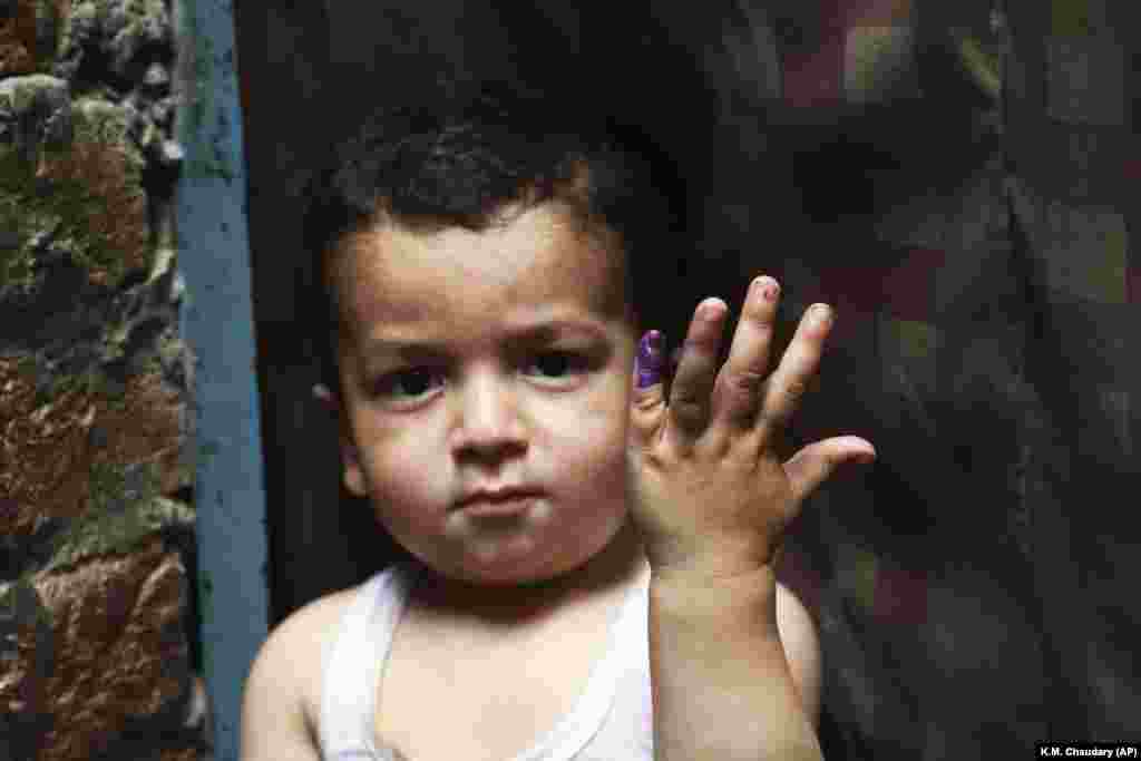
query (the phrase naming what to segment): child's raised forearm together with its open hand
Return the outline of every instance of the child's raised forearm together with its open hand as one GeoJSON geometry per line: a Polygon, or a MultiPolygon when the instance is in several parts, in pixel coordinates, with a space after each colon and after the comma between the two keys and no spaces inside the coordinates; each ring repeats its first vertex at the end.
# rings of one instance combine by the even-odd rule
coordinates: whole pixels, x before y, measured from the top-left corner
{"type": "Polygon", "coordinates": [[[719,300],[706,301],[710,318],[690,324],[669,405],[659,377],[647,378],[655,363],[645,341],[634,372],[645,388],[631,410],[631,509],[652,567],[658,761],[820,758],[780,641],[775,568],[804,497],[839,464],[874,450],[832,438],[780,462],[772,440],[816,373],[830,324],[810,314],[768,377],[776,316],[768,285],[751,289],[720,372],[728,310],[719,300]]]}

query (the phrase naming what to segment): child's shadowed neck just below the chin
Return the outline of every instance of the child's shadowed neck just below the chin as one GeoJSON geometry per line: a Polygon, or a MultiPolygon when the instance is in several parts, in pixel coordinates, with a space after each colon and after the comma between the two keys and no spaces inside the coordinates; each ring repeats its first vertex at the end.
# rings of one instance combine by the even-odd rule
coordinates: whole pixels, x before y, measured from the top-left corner
{"type": "Polygon", "coordinates": [[[518,630],[537,625],[575,602],[620,591],[645,567],[641,542],[630,521],[598,554],[556,578],[516,586],[491,586],[447,578],[426,569],[414,597],[426,612],[459,617],[479,628],[518,630]]]}

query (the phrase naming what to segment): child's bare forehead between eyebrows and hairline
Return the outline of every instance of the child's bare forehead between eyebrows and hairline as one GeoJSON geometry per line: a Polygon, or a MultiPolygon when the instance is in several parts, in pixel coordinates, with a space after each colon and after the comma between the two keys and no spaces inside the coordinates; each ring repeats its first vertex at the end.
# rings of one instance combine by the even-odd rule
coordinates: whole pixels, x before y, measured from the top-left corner
{"type": "Polygon", "coordinates": [[[339,290],[354,322],[414,322],[464,306],[577,302],[610,313],[621,298],[621,250],[551,204],[476,232],[382,222],[348,246],[339,290]]]}

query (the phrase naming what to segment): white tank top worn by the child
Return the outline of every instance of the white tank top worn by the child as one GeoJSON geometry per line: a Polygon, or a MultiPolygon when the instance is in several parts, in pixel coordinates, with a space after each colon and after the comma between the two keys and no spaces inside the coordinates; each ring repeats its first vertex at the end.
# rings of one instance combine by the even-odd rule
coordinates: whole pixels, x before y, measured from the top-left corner
{"type": "MultiPolygon", "coordinates": [[[[653,761],[654,724],[647,640],[649,567],[610,623],[605,655],[569,713],[534,745],[504,761],[653,761]]],[[[325,761],[399,759],[373,740],[378,670],[423,567],[390,566],[362,584],[324,653],[317,727],[325,761]]]]}

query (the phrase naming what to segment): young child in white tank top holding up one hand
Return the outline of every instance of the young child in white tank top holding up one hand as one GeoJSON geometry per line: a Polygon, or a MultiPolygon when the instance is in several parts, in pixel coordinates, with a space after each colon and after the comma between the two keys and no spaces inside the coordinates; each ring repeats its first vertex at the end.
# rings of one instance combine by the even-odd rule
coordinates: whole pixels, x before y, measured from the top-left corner
{"type": "Polygon", "coordinates": [[[774,371],[758,278],[719,367],[705,299],[667,391],[644,334],[667,203],[574,107],[483,88],[379,113],[308,187],[315,395],[407,557],[270,633],[246,761],[819,758],[816,634],[774,567],[803,499],[874,451],[771,442],[828,322],[774,371]]]}

